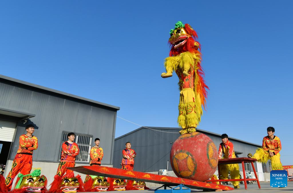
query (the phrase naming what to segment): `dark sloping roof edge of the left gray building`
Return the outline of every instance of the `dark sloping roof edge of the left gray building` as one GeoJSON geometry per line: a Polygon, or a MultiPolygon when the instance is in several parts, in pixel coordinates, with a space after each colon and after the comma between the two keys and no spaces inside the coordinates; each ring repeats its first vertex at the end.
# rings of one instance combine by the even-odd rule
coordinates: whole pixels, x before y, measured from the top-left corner
{"type": "Polygon", "coordinates": [[[69,94],[69,93],[58,91],[58,90],[55,90],[55,89],[50,89],[50,88],[47,88],[47,87],[43,87],[43,86],[40,86],[40,85],[37,85],[37,84],[33,84],[33,83],[25,82],[25,81],[22,81],[22,80],[18,80],[18,79],[15,79],[15,78],[7,77],[7,76],[4,76],[4,75],[0,75],[0,78],[8,80],[8,81],[11,81],[11,82],[16,82],[18,84],[23,84],[23,85],[26,85],[26,86],[29,86],[29,87],[45,90],[47,92],[53,92],[53,93],[61,94],[61,95],[68,96],[68,97],[71,97],[71,98],[74,98],[74,99],[88,101],[88,102],[91,102],[91,103],[94,103],[94,104],[98,104],[98,105],[106,106],[106,107],[109,107],[109,108],[112,108],[112,109],[120,110],[120,107],[118,107],[118,106],[113,106],[113,105],[102,103],[102,102],[99,102],[99,101],[86,99],[86,98],[81,97],[81,96],[76,96],[74,94],[69,94]]]}

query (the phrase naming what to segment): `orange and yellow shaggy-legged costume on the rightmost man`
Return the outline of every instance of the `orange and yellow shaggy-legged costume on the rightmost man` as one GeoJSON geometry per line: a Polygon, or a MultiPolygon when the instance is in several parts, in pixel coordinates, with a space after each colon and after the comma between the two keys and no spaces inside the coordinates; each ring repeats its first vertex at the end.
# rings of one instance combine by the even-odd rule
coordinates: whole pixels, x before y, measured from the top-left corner
{"type": "Polygon", "coordinates": [[[252,158],[257,159],[258,162],[266,163],[271,160],[272,170],[283,170],[280,160],[280,151],[282,149],[281,140],[277,136],[270,139],[268,136],[263,138],[262,148],[257,148],[252,158]],[[274,156],[270,156],[268,152],[272,152],[274,156]]]}

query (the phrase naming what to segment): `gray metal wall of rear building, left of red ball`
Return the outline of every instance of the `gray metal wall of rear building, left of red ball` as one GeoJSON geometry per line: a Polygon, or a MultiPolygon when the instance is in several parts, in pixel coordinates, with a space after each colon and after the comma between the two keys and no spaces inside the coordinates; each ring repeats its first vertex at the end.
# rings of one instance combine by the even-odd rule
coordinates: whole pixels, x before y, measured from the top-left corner
{"type": "MultiPolygon", "coordinates": [[[[180,135],[177,133],[178,130],[159,128],[156,130],[158,131],[142,128],[115,139],[113,167],[121,167],[122,150],[125,149],[125,143],[130,141],[132,149],[137,153],[134,170],[154,172],[167,169],[172,144],[180,135]]],[[[171,170],[170,161],[168,167],[171,170]]]]}

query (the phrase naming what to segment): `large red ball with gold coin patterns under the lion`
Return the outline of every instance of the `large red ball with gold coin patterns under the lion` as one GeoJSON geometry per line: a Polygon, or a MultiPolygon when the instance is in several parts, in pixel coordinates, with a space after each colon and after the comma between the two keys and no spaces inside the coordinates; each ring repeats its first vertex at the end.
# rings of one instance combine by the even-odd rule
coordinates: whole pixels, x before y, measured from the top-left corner
{"type": "Polygon", "coordinates": [[[178,177],[205,182],[217,169],[218,152],[205,134],[186,133],[174,142],[170,160],[178,177]]]}

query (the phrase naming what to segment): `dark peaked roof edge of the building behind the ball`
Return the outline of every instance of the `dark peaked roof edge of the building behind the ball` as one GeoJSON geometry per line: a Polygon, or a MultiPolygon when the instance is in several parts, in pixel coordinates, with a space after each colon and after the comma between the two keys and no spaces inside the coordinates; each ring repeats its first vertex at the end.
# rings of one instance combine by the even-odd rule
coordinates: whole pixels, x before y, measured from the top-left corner
{"type": "MultiPolygon", "coordinates": [[[[142,129],[142,128],[166,129],[166,130],[176,130],[176,131],[181,130],[181,128],[178,128],[178,127],[147,127],[147,126],[143,126],[143,127],[140,127],[140,128],[135,129],[134,131],[131,131],[131,132],[129,132],[129,133],[126,133],[125,135],[122,135],[122,136],[120,136],[120,137],[117,137],[117,138],[115,138],[115,140],[116,140],[116,139],[119,139],[119,138],[122,138],[122,137],[124,137],[124,136],[127,136],[127,135],[129,135],[129,134],[131,134],[131,133],[134,133],[134,132],[136,132],[136,131],[138,131],[138,130],[140,130],[140,129],[142,129]]],[[[174,132],[176,132],[176,131],[174,131],[174,132]]],[[[210,135],[214,135],[214,136],[221,137],[221,134],[219,134],[219,133],[213,133],[213,132],[206,131],[206,130],[203,130],[203,129],[198,129],[198,128],[197,128],[196,131],[199,131],[200,133],[208,133],[208,134],[210,134],[210,135]]],[[[258,144],[255,144],[255,143],[250,143],[250,142],[247,142],[247,141],[243,141],[243,140],[241,140],[241,139],[232,138],[232,137],[229,137],[229,139],[233,139],[233,140],[235,140],[235,141],[239,141],[239,142],[241,142],[241,143],[246,143],[246,144],[250,144],[250,145],[255,145],[255,146],[261,147],[261,145],[258,145],[258,144]]]]}

